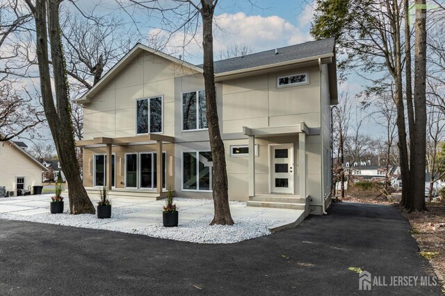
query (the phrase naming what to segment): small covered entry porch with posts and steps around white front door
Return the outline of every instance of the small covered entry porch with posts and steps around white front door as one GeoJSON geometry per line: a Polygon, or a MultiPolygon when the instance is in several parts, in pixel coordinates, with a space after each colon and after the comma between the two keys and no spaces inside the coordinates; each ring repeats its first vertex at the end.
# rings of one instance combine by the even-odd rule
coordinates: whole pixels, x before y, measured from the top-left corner
{"type": "Polygon", "coordinates": [[[306,138],[310,134],[305,122],[299,125],[268,128],[243,127],[248,136],[248,206],[277,207],[298,209],[309,213],[309,195],[307,195],[307,156],[306,138]],[[290,144],[273,144],[268,149],[269,186],[268,192],[257,193],[255,190],[255,155],[256,139],[282,137],[290,144]],[[293,142],[298,143],[298,153],[293,152],[293,142]],[[287,146],[286,146],[287,145],[287,146]],[[275,146],[277,148],[275,148],[275,146]],[[286,151],[287,149],[287,151],[286,151]],[[290,150],[291,149],[291,150],[290,150]],[[295,157],[294,157],[295,155],[295,157]],[[294,159],[295,158],[295,159],[294,159]],[[298,161],[297,161],[298,159],[298,161]],[[298,162],[298,174],[296,164],[298,162]],[[298,177],[296,177],[298,175],[298,177]],[[298,186],[298,190],[296,187],[298,186]]]}

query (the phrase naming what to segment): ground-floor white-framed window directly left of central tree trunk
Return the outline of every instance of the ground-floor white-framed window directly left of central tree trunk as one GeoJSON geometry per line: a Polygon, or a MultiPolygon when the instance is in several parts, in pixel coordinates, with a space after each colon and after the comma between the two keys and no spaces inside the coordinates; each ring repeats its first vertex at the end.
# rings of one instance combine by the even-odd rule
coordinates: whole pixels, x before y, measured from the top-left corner
{"type": "Polygon", "coordinates": [[[182,189],[211,191],[213,160],[211,152],[182,153],[182,189]]]}

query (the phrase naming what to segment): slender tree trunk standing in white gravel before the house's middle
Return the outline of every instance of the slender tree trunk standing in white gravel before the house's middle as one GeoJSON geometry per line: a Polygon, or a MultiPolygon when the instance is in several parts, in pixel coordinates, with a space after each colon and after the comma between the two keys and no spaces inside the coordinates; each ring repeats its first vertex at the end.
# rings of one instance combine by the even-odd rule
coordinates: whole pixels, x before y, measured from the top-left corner
{"type": "MultiPolygon", "coordinates": [[[[233,225],[230,214],[227,186],[227,169],[225,150],[221,139],[216,105],[215,73],[213,69],[213,11],[215,6],[211,0],[202,0],[202,47],[204,49],[204,85],[207,103],[207,124],[209,125],[209,140],[213,158],[213,205],[215,214],[211,225],[233,225]]],[[[253,153],[253,151],[250,151],[253,153]]]]}

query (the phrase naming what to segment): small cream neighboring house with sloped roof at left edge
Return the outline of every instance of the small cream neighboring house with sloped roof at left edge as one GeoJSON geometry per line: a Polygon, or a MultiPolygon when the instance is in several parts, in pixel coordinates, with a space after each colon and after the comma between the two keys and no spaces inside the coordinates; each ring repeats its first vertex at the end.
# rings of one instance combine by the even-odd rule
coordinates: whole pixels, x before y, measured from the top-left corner
{"type": "Polygon", "coordinates": [[[21,148],[22,142],[0,142],[0,187],[17,196],[22,190],[32,191],[33,186],[42,184],[42,170],[46,170],[37,159],[21,148]]]}

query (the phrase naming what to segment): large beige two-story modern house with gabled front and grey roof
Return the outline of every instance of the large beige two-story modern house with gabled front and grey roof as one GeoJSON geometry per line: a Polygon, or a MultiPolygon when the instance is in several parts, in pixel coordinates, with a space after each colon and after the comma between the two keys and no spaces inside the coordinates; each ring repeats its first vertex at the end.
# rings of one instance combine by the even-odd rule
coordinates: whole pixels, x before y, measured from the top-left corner
{"type": "MultiPolygon", "coordinates": [[[[327,39],[215,62],[230,200],[307,212],[310,203],[314,214],[329,207],[334,48],[327,39]]],[[[211,198],[202,73],[137,44],[77,100],[88,192],[106,184],[111,196],[159,198],[173,189],[211,198]]]]}

